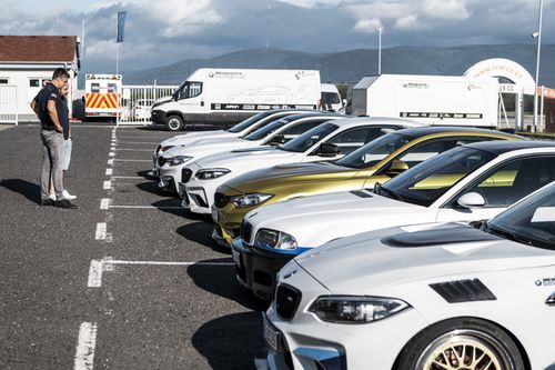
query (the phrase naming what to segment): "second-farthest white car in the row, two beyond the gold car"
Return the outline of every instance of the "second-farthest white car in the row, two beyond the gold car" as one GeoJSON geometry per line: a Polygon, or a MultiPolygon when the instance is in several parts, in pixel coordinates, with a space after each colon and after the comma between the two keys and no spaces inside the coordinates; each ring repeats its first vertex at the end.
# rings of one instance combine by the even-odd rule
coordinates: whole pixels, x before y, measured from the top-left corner
{"type": "Polygon", "coordinates": [[[158,156],[155,170],[160,180],[159,187],[167,191],[179,192],[181,170],[195,160],[238,149],[265,150],[271,146],[285,143],[322,122],[344,117],[326,112],[286,116],[252,131],[244,138],[201,139],[186,146],[173,147],[158,156]]]}

